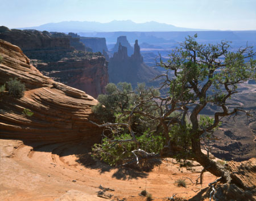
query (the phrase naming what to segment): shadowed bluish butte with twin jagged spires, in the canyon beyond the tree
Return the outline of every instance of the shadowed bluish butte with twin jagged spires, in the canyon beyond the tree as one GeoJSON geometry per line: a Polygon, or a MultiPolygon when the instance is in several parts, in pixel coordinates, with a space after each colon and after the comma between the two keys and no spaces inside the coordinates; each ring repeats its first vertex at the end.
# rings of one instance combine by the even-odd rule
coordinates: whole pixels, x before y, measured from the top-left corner
{"type": "Polygon", "coordinates": [[[135,41],[134,54],[129,57],[127,48],[121,43],[118,46],[118,52],[114,53],[109,61],[109,80],[112,83],[128,82],[135,87],[137,83],[146,83],[147,85],[157,84],[151,82],[159,71],[143,63],[143,57],[139,50],[138,40],[135,41]]]}

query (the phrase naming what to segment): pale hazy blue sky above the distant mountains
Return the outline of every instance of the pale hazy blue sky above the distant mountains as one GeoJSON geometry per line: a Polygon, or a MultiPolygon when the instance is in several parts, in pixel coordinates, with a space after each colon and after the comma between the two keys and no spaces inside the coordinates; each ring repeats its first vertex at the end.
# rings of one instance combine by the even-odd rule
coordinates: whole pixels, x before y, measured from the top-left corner
{"type": "Polygon", "coordinates": [[[256,30],[256,0],[0,0],[0,25],[133,20],[177,27],[256,30]]]}

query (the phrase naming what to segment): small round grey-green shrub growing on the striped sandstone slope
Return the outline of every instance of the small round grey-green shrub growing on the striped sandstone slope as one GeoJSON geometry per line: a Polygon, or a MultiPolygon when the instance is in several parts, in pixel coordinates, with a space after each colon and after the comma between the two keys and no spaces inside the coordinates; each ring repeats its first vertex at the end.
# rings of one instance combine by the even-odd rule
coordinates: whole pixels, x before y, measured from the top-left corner
{"type": "Polygon", "coordinates": [[[24,91],[26,90],[25,85],[21,83],[19,80],[15,79],[10,79],[7,84],[7,89],[9,91],[9,94],[11,96],[14,96],[16,98],[21,98],[24,96],[24,91]]]}

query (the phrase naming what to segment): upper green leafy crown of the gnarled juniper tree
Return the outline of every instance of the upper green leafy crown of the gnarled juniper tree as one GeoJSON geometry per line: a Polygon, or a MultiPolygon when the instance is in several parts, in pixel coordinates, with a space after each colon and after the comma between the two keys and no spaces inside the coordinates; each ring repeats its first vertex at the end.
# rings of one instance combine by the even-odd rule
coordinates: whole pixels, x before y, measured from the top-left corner
{"type": "Polygon", "coordinates": [[[256,60],[251,58],[245,62],[245,58],[255,53],[251,47],[229,52],[228,41],[216,45],[199,44],[196,37],[186,38],[181,47],[170,54],[168,65],[162,65],[175,72],[174,79],[170,80],[170,96],[177,101],[200,101],[201,104],[207,101],[220,105],[227,95],[225,84],[235,92],[238,83],[255,78],[256,60]],[[224,61],[221,56],[225,57],[224,61]],[[204,85],[207,90],[212,86],[212,93],[207,97],[200,93],[204,85]]]}

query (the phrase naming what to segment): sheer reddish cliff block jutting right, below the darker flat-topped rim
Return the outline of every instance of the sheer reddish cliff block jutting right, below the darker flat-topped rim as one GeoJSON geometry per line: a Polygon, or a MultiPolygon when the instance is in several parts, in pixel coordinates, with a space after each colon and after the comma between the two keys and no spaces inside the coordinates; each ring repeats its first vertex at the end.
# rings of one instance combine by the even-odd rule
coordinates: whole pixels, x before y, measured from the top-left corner
{"type": "Polygon", "coordinates": [[[61,59],[47,65],[38,63],[37,69],[55,81],[67,84],[93,97],[105,92],[108,68],[100,53],[86,53],[82,59],[61,59]]]}

